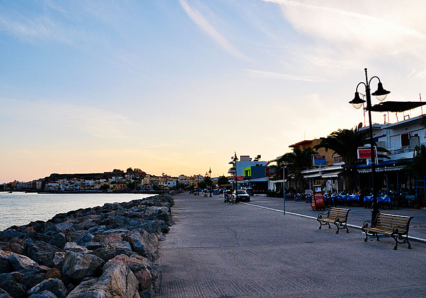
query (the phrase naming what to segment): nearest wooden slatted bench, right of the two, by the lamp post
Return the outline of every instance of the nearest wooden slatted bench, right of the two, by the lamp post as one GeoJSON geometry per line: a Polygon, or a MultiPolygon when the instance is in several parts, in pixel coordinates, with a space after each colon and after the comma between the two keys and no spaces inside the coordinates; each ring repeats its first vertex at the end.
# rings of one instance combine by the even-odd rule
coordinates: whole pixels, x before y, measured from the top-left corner
{"type": "Polygon", "coordinates": [[[379,234],[390,235],[395,240],[394,249],[398,249],[398,244],[408,243],[408,248],[411,249],[411,244],[408,240],[408,230],[410,228],[410,221],[413,216],[402,216],[393,214],[377,214],[375,224],[371,220],[364,221],[362,231],[365,232],[364,242],[367,241],[369,233],[372,236],[376,235],[377,241],[379,234]],[[403,237],[405,235],[405,237],[403,237]]]}

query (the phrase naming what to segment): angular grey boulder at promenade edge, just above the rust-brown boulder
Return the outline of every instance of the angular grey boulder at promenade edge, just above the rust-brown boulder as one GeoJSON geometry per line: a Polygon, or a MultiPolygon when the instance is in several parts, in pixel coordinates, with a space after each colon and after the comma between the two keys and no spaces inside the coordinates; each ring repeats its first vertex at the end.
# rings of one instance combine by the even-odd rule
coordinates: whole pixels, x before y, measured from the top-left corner
{"type": "Polygon", "coordinates": [[[130,244],[132,250],[141,256],[154,260],[158,257],[158,238],[143,229],[134,229],[123,237],[130,244]]]}

